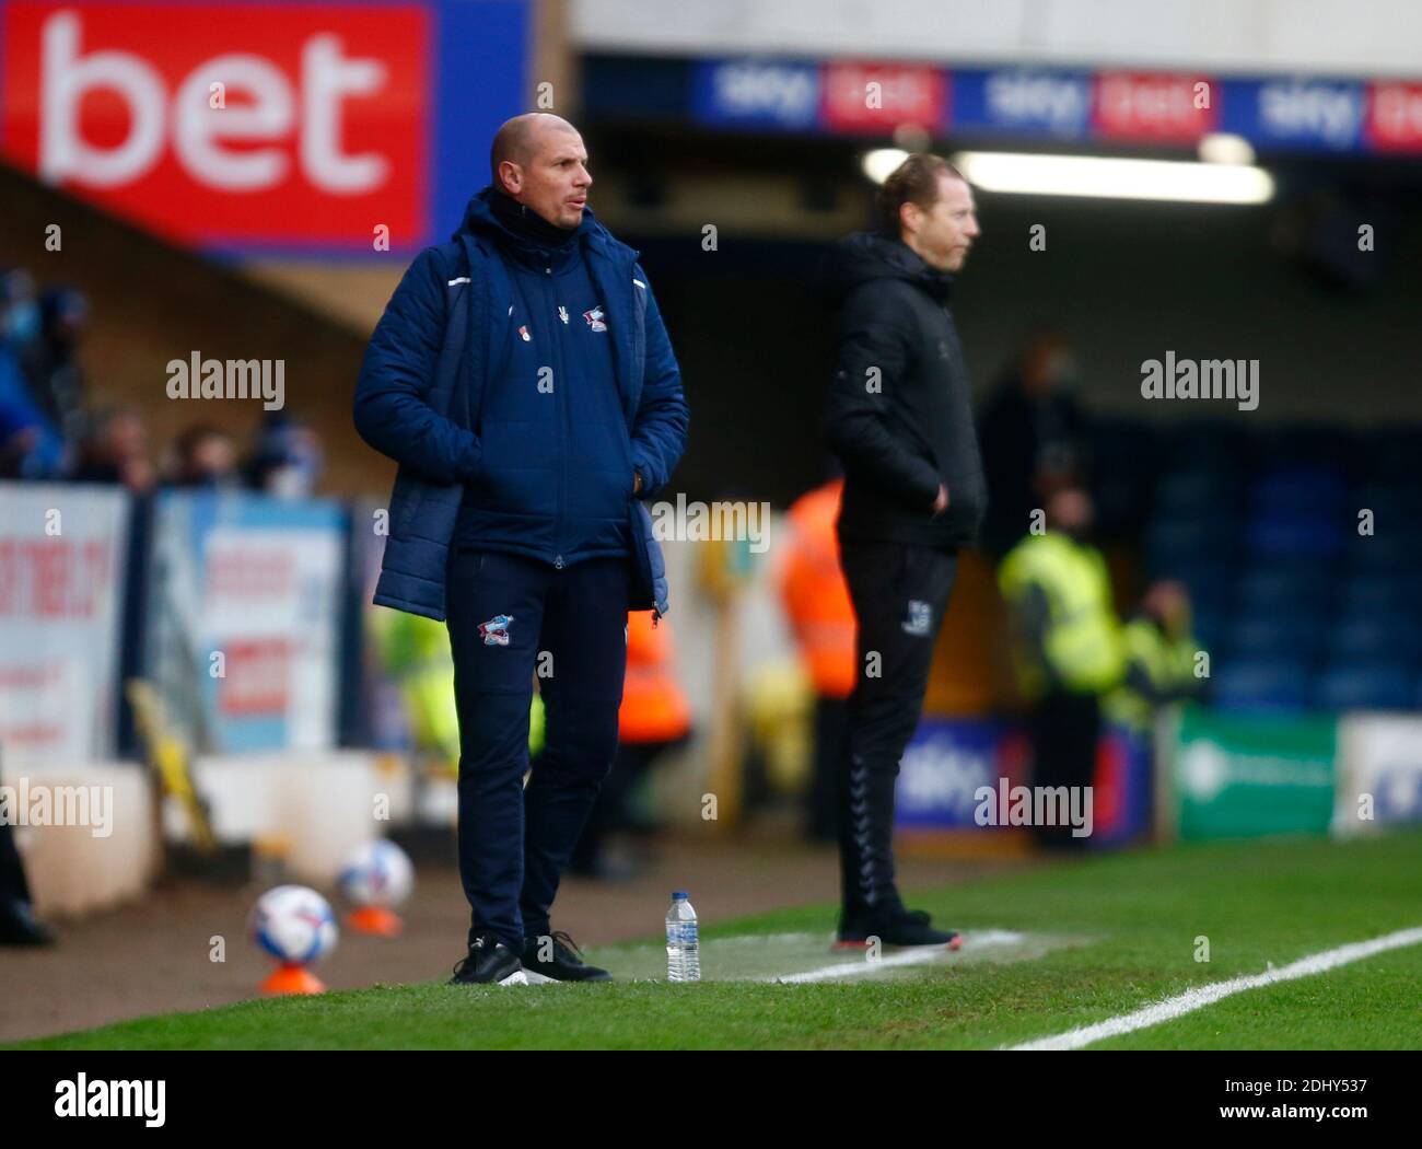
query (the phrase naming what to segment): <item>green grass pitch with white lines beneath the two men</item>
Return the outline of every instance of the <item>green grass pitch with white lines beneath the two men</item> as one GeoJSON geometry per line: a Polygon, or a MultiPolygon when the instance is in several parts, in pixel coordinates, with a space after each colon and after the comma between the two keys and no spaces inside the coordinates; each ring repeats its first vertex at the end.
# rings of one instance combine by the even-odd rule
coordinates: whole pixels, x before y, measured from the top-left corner
{"type": "MultiPolygon", "coordinates": [[[[702,923],[705,980],[695,985],[653,980],[664,976],[664,954],[648,940],[589,950],[621,977],[613,984],[451,987],[441,977],[139,1018],[18,1048],[993,1049],[1422,926],[1422,832],[1086,857],[907,900],[964,930],[963,951],[776,984],[862,961],[829,951],[832,907],[801,907],[702,923]],[[1021,939],[1003,943],[1003,931],[1021,939]],[[1196,960],[1202,936],[1209,961],[1196,960]]],[[[1416,1049],[1419,984],[1422,946],[1411,946],[1092,1048],[1416,1049]]]]}

